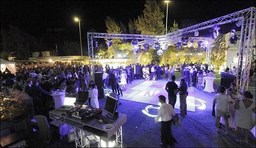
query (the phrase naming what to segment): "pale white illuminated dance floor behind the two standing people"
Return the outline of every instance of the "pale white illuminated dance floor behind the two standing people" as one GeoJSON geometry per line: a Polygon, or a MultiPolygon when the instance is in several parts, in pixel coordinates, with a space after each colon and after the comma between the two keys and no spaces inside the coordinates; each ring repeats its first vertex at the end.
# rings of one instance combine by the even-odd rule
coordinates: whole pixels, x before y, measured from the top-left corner
{"type": "MultiPolygon", "coordinates": [[[[135,80],[134,84],[127,84],[127,89],[123,91],[123,96],[120,99],[136,101],[140,103],[159,105],[159,100],[157,96],[165,95],[168,97],[168,93],[165,91],[165,85],[168,81],[158,80],[155,84],[149,80],[135,80]],[[135,84],[136,83],[136,84],[135,84]]],[[[179,81],[175,81],[177,85],[180,85],[179,81]]],[[[195,91],[194,87],[189,87],[189,95],[186,99],[187,110],[195,112],[195,91]]],[[[168,102],[168,98],[166,98],[168,102]]],[[[177,102],[175,104],[175,109],[179,109],[180,100],[179,95],[177,95],[177,102]]]]}

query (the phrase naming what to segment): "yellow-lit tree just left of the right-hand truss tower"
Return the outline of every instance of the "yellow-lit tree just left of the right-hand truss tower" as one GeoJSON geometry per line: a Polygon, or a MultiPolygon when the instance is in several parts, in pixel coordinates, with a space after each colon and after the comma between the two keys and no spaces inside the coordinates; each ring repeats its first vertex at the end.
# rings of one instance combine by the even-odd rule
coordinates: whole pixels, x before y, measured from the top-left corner
{"type": "Polygon", "coordinates": [[[223,34],[220,34],[213,42],[211,47],[211,63],[213,63],[216,69],[225,63],[226,61],[226,48],[225,41],[223,40],[223,34]]]}

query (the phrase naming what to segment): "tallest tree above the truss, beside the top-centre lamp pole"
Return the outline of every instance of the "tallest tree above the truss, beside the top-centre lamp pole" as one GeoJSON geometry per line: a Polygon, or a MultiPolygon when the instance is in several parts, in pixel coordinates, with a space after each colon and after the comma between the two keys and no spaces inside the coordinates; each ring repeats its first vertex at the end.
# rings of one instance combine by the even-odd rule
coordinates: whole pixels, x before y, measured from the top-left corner
{"type": "Polygon", "coordinates": [[[161,12],[156,1],[146,1],[143,14],[135,20],[136,29],[141,34],[163,35],[164,34],[164,13],[161,12]]]}

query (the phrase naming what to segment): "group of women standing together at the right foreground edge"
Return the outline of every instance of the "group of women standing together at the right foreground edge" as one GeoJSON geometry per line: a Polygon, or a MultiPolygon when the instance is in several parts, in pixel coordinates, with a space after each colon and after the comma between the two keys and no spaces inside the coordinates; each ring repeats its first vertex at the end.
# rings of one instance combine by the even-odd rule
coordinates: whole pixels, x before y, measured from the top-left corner
{"type": "Polygon", "coordinates": [[[217,94],[214,96],[216,130],[220,130],[220,118],[224,118],[225,134],[230,130],[237,130],[237,142],[245,146],[248,145],[249,130],[252,127],[252,111],[255,114],[255,103],[252,101],[253,95],[249,91],[242,93],[237,89],[237,84],[230,84],[230,88],[219,86],[217,94]]]}

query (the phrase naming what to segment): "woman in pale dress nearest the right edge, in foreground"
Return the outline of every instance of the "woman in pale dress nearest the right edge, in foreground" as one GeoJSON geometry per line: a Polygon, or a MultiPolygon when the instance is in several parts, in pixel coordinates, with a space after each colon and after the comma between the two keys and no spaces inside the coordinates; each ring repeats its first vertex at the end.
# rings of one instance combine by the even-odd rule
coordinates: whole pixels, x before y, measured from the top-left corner
{"type": "Polygon", "coordinates": [[[253,95],[249,91],[245,91],[242,99],[235,100],[235,109],[237,109],[235,113],[235,126],[237,126],[239,133],[237,142],[240,145],[244,143],[245,146],[248,145],[248,134],[252,128],[252,111],[255,113],[255,102],[251,99],[253,99],[253,95]],[[244,139],[242,139],[243,136],[244,139]]]}

